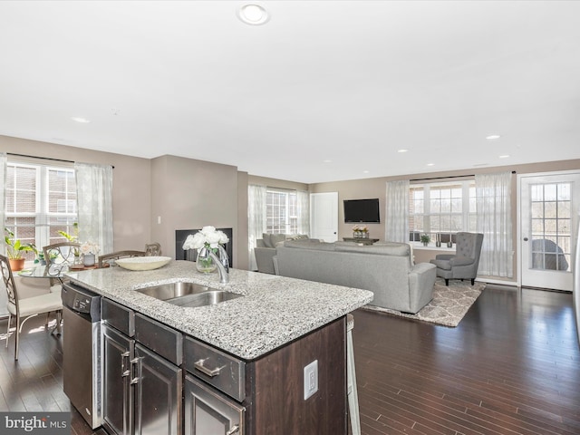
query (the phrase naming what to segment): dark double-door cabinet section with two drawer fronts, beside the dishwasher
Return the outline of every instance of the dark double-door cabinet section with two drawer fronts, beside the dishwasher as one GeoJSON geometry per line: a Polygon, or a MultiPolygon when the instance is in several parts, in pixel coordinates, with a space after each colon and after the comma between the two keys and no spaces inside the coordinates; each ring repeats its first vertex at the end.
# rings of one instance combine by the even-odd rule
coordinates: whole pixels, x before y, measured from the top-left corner
{"type": "Polygon", "coordinates": [[[181,334],[106,299],[102,322],[105,429],[114,435],[180,435],[181,334]]]}

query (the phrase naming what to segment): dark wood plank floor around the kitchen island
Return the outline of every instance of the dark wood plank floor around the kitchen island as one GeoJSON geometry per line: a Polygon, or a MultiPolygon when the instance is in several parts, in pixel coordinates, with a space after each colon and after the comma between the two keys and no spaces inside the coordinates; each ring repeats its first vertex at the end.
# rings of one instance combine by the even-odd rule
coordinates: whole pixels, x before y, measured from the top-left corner
{"type": "MultiPolygon", "coordinates": [[[[488,285],[457,328],[354,318],[363,435],[580,433],[572,295],[488,285]]],[[[8,349],[0,342],[0,410],[69,411],[62,339],[43,319],[24,330],[18,362],[14,338],[8,349]]],[[[93,433],[75,411],[72,426],[93,433]]]]}

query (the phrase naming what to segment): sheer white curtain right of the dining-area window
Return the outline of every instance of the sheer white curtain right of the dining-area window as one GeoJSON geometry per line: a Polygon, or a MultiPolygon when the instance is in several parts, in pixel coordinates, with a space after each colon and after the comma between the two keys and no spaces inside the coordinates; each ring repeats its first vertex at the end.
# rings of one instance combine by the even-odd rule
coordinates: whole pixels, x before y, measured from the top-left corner
{"type": "Polygon", "coordinates": [[[79,241],[92,241],[100,254],[112,246],[112,167],[75,163],[76,191],[79,206],[79,241]]]}

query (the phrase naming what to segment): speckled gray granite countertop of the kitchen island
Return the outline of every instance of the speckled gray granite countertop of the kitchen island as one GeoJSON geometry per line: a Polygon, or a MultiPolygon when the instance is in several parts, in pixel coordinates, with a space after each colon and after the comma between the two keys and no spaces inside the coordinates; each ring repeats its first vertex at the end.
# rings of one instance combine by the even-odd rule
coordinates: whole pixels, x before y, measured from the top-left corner
{"type": "Polygon", "coordinates": [[[367,290],[238,269],[230,269],[230,282],[220,284],[218,273],[200,274],[195,263],[180,260],[150,271],[109,267],[66,275],[73,283],[244,360],[256,359],[372,301],[367,290]],[[245,297],[189,308],[134,291],[179,281],[245,297]]]}

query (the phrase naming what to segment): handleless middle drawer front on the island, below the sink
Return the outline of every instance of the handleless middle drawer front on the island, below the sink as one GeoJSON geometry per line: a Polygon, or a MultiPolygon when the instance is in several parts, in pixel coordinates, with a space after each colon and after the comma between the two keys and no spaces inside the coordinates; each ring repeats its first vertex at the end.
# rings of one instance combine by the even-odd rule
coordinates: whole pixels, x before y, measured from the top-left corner
{"type": "Polygon", "coordinates": [[[183,335],[165,324],[137,313],[135,339],[176,365],[183,362],[183,335]]]}

